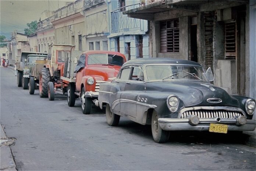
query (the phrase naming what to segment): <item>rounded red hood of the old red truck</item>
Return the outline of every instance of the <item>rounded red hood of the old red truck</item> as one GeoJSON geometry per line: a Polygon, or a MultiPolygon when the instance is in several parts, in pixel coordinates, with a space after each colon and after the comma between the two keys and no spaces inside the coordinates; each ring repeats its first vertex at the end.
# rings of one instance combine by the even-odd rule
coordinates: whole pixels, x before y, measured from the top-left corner
{"type": "Polygon", "coordinates": [[[116,77],[120,68],[121,66],[118,65],[87,65],[85,74],[107,81],[109,78],[116,77]]]}

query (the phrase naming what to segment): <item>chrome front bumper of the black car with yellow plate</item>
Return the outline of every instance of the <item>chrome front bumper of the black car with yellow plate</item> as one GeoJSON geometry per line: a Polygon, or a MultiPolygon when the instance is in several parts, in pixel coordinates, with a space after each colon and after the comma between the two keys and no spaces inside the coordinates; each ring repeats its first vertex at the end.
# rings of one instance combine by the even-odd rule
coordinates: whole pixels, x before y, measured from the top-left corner
{"type": "Polygon", "coordinates": [[[253,131],[256,127],[256,120],[246,120],[244,125],[236,125],[235,118],[199,118],[199,124],[189,124],[188,118],[159,118],[159,126],[166,131],[209,131],[210,123],[226,124],[228,131],[253,131]]]}

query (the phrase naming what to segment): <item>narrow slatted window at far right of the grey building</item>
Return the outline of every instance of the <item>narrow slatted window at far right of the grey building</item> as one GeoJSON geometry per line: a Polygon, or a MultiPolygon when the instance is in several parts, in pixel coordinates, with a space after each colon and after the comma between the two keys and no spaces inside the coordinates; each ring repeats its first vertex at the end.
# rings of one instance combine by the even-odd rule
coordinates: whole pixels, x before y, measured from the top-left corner
{"type": "Polygon", "coordinates": [[[235,59],[236,44],[235,22],[225,23],[225,59],[235,59]]]}

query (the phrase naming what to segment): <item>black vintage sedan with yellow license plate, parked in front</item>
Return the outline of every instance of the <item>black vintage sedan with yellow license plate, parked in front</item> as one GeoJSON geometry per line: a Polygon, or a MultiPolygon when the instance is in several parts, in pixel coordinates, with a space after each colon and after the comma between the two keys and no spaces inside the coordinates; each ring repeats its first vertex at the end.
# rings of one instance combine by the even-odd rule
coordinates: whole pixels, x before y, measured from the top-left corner
{"type": "Polygon", "coordinates": [[[211,81],[211,69],[205,72],[193,61],[130,60],[116,79],[100,85],[99,106],[106,105],[110,126],[118,125],[120,116],[151,124],[158,143],[166,142],[174,130],[253,131],[255,100],[229,95],[211,81]]]}

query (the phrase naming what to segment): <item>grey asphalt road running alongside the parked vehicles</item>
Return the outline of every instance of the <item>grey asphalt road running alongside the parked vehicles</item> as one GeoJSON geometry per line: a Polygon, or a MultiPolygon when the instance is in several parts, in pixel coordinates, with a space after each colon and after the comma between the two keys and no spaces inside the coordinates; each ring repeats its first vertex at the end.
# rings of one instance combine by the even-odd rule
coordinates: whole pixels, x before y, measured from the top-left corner
{"type": "MultiPolygon", "coordinates": [[[[107,125],[104,111],[84,115],[81,103],[68,107],[29,95],[17,87],[14,71],[0,70],[0,116],[18,170],[256,170],[255,148],[245,135],[174,132],[169,142],[155,143],[150,126],[121,118],[107,125]]],[[[1,156],[3,157],[3,156],[1,156]]]]}

